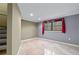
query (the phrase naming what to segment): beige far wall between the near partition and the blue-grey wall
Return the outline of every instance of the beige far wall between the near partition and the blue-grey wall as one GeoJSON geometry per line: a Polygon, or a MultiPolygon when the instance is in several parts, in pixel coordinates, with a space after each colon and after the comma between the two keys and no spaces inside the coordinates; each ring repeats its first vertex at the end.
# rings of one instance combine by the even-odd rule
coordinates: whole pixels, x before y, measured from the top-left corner
{"type": "Polygon", "coordinates": [[[21,39],[37,37],[37,24],[31,21],[21,21],[21,39]]]}

